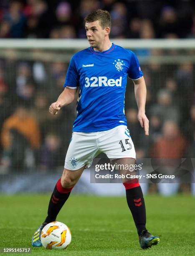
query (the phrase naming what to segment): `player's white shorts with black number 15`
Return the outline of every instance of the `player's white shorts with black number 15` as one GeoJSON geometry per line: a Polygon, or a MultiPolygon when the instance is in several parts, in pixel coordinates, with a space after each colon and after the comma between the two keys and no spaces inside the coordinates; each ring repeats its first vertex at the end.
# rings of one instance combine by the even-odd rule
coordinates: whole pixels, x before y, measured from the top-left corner
{"type": "Polygon", "coordinates": [[[93,159],[101,152],[109,159],[136,158],[126,125],[119,125],[108,131],[73,132],[64,168],[76,171],[84,165],[90,167],[93,159]]]}

